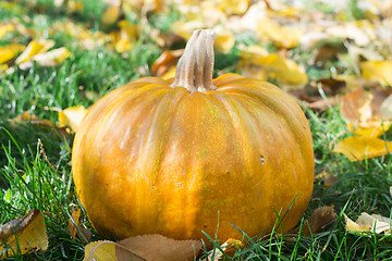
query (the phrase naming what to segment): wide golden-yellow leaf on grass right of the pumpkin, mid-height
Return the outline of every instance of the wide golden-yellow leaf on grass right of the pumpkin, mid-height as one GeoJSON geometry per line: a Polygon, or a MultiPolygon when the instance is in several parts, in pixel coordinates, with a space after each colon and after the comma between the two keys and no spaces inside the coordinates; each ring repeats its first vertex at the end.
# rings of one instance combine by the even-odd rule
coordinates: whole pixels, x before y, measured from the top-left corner
{"type": "Polygon", "coordinates": [[[382,139],[354,136],[339,141],[332,152],[343,153],[350,161],[359,161],[388,154],[392,151],[392,142],[382,139]]]}

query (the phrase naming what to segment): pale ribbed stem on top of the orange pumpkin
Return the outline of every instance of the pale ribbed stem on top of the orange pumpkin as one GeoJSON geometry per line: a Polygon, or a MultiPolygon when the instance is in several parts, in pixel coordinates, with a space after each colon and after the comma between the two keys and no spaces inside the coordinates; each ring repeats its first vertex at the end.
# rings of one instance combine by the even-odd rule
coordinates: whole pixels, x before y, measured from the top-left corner
{"type": "Polygon", "coordinates": [[[172,87],[183,86],[189,91],[201,92],[217,89],[212,84],[216,38],[212,29],[197,29],[193,33],[179,60],[172,87]]]}

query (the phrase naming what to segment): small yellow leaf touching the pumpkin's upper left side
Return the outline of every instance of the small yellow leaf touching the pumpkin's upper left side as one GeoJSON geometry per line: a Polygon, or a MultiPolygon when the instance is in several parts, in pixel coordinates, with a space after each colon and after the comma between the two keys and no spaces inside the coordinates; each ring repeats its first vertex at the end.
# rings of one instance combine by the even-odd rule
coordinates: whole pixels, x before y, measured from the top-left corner
{"type": "Polygon", "coordinates": [[[70,127],[74,133],[87,113],[87,109],[83,105],[70,107],[59,112],[59,127],[70,127]]]}

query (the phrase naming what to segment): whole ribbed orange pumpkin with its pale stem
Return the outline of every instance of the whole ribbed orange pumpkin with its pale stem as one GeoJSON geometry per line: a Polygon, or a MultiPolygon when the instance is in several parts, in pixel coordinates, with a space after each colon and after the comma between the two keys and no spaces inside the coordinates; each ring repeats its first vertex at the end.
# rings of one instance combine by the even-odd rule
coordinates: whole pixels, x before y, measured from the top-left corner
{"type": "Polygon", "coordinates": [[[103,237],[225,240],[242,238],[234,226],[253,237],[279,227],[278,214],[284,231],[302,217],[314,182],[308,122],[272,84],[212,79],[213,41],[196,30],[174,79],[131,82],[83,120],[73,177],[103,237]]]}

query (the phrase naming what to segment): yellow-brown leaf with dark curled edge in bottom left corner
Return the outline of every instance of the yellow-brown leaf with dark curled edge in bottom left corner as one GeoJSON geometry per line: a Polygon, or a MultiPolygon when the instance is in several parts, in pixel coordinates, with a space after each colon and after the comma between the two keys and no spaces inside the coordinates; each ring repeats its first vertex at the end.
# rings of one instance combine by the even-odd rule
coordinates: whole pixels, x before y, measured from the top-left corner
{"type": "Polygon", "coordinates": [[[46,250],[48,235],[42,213],[34,209],[28,214],[1,225],[0,241],[0,259],[46,250]]]}

